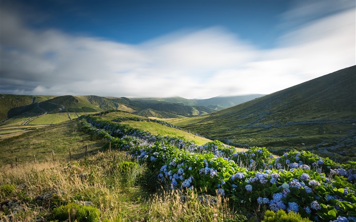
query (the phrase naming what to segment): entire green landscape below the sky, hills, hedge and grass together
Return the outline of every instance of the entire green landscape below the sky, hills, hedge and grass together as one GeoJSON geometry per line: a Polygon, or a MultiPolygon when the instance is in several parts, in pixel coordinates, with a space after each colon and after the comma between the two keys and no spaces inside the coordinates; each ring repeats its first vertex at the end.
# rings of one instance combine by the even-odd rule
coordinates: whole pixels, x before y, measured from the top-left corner
{"type": "Polygon", "coordinates": [[[354,221],[355,69],[219,111],[3,95],[0,218],[354,221]]]}

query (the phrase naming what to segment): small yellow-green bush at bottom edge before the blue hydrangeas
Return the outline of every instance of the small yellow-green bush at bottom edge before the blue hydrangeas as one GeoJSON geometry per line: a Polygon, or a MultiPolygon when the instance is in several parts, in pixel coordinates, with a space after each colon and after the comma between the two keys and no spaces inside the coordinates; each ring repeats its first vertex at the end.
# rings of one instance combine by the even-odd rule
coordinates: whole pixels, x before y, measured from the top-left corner
{"type": "Polygon", "coordinates": [[[303,218],[299,213],[290,211],[288,214],[284,210],[278,210],[274,212],[272,210],[267,210],[264,213],[262,222],[309,222],[308,218],[303,218]]]}

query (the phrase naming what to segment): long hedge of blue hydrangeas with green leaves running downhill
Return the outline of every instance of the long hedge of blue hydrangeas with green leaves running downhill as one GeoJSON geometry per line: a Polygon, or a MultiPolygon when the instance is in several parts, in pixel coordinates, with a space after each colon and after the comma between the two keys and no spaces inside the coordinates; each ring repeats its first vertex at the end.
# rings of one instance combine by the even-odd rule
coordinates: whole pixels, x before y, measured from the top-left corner
{"type": "Polygon", "coordinates": [[[119,121],[81,119],[83,130],[146,163],[170,189],[196,189],[229,197],[248,210],[264,206],[313,220],[345,217],[352,221],[356,217],[355,163],[340,165],[309,151],[292,150],[277,158],[260,147],[236,152],[220,141],[197,146],[184,138],[154,136],[119,121]]]}

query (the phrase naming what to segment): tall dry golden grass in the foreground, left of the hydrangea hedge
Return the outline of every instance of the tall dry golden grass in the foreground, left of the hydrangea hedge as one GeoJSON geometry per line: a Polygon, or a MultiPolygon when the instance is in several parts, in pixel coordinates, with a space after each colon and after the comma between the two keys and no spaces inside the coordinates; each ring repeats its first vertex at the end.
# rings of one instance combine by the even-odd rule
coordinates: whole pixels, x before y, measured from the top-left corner
{"type": "Polygon", "coordinates": [[[53,209],[68,203],[88,201],[100,210],[101,221],[239,221],[244,218],[230,208],[228,199],[207,205],[195,192],[150,189],[150,174],[142,165],[129,171],[132,162],[124,152],[99,152],[63,164],[24,164],[16,169],[0,168],[0,212],[3,221],[48,221],[53,209]],[[10,188],[7,188],[10,187],[10,188]],[[6,189],[5,189],[6,188],[6,189]],[[4,192],[3,192],[4,191],[4,192]],[[12,211],[12,213],[10,212],[12,211]]]}

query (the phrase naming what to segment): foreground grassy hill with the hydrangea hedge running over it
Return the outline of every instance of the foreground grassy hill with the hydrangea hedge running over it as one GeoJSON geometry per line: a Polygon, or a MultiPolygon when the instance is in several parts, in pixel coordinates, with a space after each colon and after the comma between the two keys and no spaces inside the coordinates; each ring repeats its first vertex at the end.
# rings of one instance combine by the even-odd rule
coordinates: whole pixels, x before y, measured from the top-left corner
{"type": "Polygon", "coordinates": [[[264,215],[356,220],[355,162],[339,164],[309,151],[276,156],[265,147],[200,143],[167,122],[126,112],[85,115],[0,141],[5,157],[0,216],[5,221],[261,221],[264,215]],[[9,164],[14,157],[17,166],[9,164]]]}

